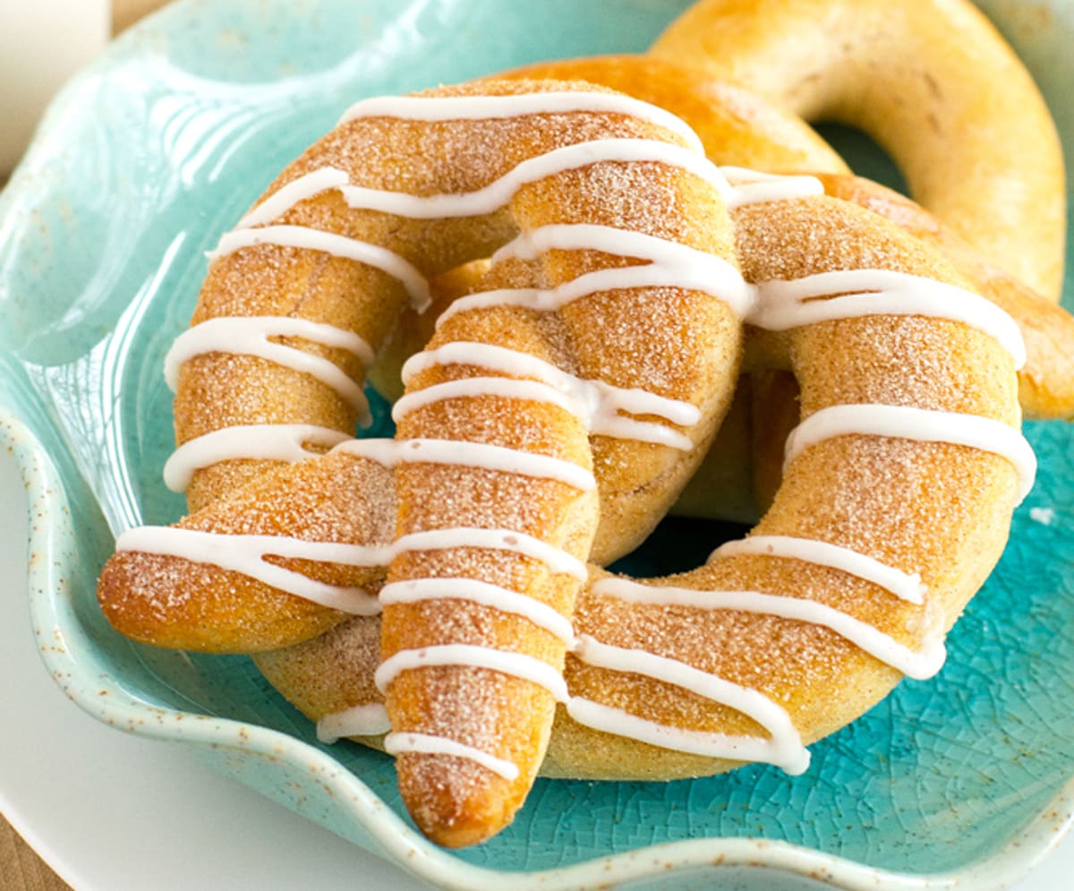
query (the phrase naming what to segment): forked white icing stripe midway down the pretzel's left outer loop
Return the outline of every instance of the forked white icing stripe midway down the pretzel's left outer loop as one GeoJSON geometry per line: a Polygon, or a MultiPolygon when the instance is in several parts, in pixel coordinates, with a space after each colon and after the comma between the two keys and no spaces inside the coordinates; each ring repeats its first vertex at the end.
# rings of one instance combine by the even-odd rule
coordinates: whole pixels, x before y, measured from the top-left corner
{"type": "Polygon", "coordinates": [[[188,328],[175,339],[164,357],[164,379],[174,391],[178,385],[179,367],[207,353],[257,356],[316,377],[367,417],[368,403],[361,386],[338,365],[297,347],[275,343],[270,337],[301,337],[322,346],[346,349],[363,363],[373,361],[373,350],[365,341],[331,325],[284,316],[219,316],[188,328]]]}

